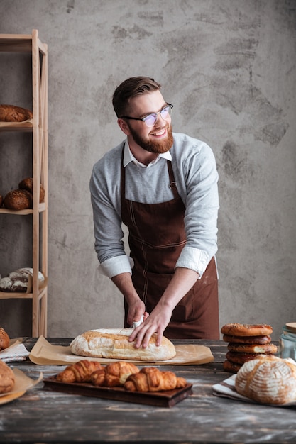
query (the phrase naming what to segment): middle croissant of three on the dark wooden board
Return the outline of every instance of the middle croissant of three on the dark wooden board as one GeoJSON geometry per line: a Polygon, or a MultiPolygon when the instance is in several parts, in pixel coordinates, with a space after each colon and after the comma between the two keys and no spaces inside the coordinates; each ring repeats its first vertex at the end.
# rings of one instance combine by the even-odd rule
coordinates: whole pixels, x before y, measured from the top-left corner
{"type": "Polygon", "coordinates": [[[111,362],[101,370],[92,373],[91,382],[99,387],[121,387],[131,374],[139,371],[138,367],[131,362],[111,362]]]}

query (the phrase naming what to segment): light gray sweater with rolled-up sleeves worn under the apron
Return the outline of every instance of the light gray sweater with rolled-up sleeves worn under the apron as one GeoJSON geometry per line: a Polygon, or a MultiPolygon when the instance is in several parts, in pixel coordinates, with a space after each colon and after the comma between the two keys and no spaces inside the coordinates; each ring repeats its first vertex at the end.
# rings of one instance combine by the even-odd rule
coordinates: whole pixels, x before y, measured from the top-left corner
{"type": "MultiPolygon", "coordinates": [[[[185,204],[187,235],[187,243],[176,267],[190,268],[201,277],[217,250],[219,197],[216,162],[212,149],[201,140],[180,133],[173,133],[173,137],[169,157],[178,193],[185,204]]],[[[153,165],[141,167],[134,161],[128,143],[122,142],[94,165],[89,184],[94,214],[94,245],[101,270],[109,277],[131,272],[133,266],[124,250],[121,227],[120,172],[124,146],[126,199],[145,204],[173,199],[167,160],[161,156],[153,165]]]]}

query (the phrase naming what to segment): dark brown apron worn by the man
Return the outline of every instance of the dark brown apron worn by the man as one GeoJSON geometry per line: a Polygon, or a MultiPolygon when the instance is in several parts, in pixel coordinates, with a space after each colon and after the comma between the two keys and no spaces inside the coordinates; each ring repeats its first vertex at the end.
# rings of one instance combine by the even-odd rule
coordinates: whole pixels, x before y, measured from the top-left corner
{"type": "MultiPolygon", "coordinates": [[[[128,227],[130,255],[134,261],[132,280],[136,292],[151,313],[175,272],[175,264],[186,244],[185,206],[177,192],[172,162],[167,160],[174,198],[161,204],[141,204],[125,197],[125,168],[121,162],[121,218],[128,227]]],[[[125,327],[128,306],[125,302],[125,327]]],[[[219,339],[218,280],[214,257],[172,311],[164,331],[167,338],[219,339]]]]}

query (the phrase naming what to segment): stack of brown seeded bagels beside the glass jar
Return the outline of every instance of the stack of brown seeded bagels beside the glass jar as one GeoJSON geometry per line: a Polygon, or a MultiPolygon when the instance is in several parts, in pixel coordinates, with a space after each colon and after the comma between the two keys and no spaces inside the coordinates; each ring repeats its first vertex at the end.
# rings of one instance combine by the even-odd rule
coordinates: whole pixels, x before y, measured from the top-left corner
{"type": "Polygon", "coordinates": [[[228,352],[223,368],[236,373],[247,361],[259,355],[275,355],[278,347],[271,343],[273,328],[267,324],[228,323],[221,328],[228,352]]]}

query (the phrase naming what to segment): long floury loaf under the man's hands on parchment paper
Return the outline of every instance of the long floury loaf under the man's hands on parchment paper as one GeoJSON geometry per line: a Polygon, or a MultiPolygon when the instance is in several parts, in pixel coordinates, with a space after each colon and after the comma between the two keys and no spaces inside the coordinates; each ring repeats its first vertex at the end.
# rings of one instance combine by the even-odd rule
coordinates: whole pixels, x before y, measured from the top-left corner
{"type": "Polygon", "coordinates": [[[72,340],[70,350],[78,356],[153,362],[169,360],[175,356],[175,346],[168,338],[163,338],[160,347],[157,347],[157,334],[154,333],[148,347],[135,348],[133,342],[128,342],[131,332],[131,328],[89,330],[72,340]]]}

